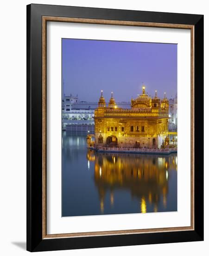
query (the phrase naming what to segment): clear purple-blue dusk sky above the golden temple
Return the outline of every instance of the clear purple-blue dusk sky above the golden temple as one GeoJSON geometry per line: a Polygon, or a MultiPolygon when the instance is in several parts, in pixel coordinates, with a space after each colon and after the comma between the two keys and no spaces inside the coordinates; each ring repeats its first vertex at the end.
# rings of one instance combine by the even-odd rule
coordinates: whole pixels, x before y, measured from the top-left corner
{"type": "Polygon", "coordinates": [[[80,101],[130,101],[146,92],[177,93],[177,44],[62,39],[64,93],[80,101]]]}

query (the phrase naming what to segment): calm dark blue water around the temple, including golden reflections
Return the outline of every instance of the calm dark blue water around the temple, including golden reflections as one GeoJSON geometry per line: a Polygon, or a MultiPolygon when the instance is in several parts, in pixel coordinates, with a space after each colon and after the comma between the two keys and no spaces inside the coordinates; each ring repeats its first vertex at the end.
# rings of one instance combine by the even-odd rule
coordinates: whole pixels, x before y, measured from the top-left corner
{"type": "Polygon", "coordinates": [[[177,211],[177,154],[97,153],[63,132],[62,216],[177,211]]]}

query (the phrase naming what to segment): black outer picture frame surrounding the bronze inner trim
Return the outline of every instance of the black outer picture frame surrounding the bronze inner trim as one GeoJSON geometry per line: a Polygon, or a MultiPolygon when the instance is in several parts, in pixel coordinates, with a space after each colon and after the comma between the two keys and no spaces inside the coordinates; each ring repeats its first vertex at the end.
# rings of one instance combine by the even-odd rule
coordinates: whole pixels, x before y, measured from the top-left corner
{"type": "Polygon", "coordinates": [[[203,15],[31,4],[27,6],[27,250],[99,248],[203,240],[203,15]],[[194,230],[43,239],[42,17],[194,26],[194,230]]]}

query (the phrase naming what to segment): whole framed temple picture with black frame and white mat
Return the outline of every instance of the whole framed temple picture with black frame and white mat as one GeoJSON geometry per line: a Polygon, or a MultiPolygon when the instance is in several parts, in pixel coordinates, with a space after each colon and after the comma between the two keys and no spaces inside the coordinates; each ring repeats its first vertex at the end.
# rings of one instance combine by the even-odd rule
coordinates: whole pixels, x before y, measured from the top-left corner
{"type": "Polygon", "coordinates": [[[27,250],[203,240],[203,15],[27,6],[27,250]]]}

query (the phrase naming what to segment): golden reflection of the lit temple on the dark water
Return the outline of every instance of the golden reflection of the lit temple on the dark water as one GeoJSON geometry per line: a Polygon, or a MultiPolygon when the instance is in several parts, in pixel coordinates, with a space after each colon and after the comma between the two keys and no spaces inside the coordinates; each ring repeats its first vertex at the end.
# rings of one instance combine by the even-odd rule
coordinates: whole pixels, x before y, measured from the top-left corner
{"type": "MultiPolygon", "coordinates": [[[[101,213],[105,197],[114,207],[114,192],[128,190],[139,202],[139,212],[146,213],[147,205],[158,212],[161,200],[167,207],[170,171],[177,171],[177,155],[134,155],[124,153],[98,153],[88,150],[87,160],[94,162],[94,182],[98,190],[101,213]]],[[[150,212],[150,211],[149,211],[150,212]]]]}

